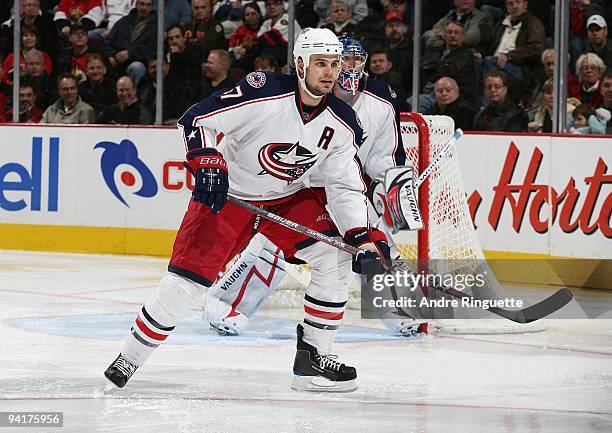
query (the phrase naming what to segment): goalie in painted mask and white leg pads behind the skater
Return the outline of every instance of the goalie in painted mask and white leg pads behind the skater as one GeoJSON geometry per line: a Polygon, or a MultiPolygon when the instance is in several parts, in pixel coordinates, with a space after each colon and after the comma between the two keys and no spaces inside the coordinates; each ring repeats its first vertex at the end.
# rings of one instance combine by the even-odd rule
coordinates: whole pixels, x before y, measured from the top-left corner
{"type": "MultiPolygon", "coordinates": [[[[334,94],[353,107],[363,126],[364,141],[357,155],[368,184],[370,223],[387,232],[389,237],[389,226],[378,202],[380,195],[385,194],[382,186],[385,171],[404,165],[406,161],[400,132],[399,101],[387,84],[369,79],[364,73],[367,52],[361,42],[348,36],[341,37],[340,41],[343,44],[341,69],[334,94]]],[[[310,179],[311,185],[323,182],[316,174],[310,179]]],[[[394,255],[399,257],[399,252],[395,250],[394,255]]],[[[221,335],[238,335],[286,273],[287,263],[282,252],[279,253],[276,245],[258,234],[203,298],[204,320],[221,335]]],[[[308,305],[308,296],[305,305],[308,305]]],[[[425,329],[423,322],[397,313],[392,309],[383,318],[392,333],[413,336],[425,329]]]]}

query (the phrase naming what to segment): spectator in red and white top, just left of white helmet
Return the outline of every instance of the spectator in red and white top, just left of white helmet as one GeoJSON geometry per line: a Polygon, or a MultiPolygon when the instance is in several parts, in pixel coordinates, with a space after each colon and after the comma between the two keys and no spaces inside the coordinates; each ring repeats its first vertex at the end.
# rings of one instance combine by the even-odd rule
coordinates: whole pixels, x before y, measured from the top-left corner
{"type": "MultiPolygon", "coordinates": [[[[287,64],[287,39],[289,35],[289,15],[285,11],[283,0],[266,0],[266,12],[268,19],[263,22],[257,32],[258,44],[261,53],[273,56],[279,65],[287,64]]],[[[295,22],[294,40],[297,39],[302,29],[295,22]]]]}

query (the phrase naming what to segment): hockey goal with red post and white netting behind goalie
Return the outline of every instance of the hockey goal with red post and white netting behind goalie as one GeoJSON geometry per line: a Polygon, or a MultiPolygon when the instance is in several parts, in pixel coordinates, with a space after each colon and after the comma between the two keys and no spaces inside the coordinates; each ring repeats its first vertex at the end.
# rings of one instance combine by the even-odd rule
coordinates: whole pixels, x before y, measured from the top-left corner
{"type": "MultiPolygon", "coordinates": [[[[442,151],[454,132],[454,121],[448,116],[403,113],[401,133],[407,163],[420,174],[442,151]]],[[[446,275],[484,273],[487,278],[485,288],[480,293],[470,294],[482,299],[503,298],[505,292],[488,267],[476,237],[455,145],[421,184],[418,199],[424,229],[394,235],[396,247],[409,267],[415,271],[426,267],[429,273],[446,275]]],[[[268,306],[301,307],[308,278],[307,267],[292,268],[268,306]]],[[[360,288],[356,283],[349,293],[349,308],[360,308],[360,288]]],[[[475,326],[482,329],[480,325],[475,326]]],[[[457,328],[457,323],[453,327],[457,328]]],[[[470,324],[470,327],[474,325],[470,324]]]]}

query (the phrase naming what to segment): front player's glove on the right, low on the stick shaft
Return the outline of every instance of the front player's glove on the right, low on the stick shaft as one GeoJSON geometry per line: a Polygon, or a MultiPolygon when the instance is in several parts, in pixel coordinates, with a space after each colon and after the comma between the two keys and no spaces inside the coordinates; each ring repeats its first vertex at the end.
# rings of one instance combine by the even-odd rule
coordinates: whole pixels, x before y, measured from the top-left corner
{"type": "Polygon", "coordinates": [[[347,231],[344,240],[363,250],[353,257],[353,272],[363,275],[382,274],[393,266],[387,238],[380,230],[357,227],[347,231]]]}

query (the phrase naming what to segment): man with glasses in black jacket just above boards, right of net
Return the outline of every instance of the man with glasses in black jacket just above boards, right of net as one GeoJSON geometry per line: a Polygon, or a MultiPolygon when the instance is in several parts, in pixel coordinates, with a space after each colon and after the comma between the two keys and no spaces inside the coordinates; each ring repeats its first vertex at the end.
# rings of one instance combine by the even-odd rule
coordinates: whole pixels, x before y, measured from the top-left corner
{"type": "Polygon", "coordinates": [[[506,76],[499,72],[489,72],[485,76],[485,96],[489,104],[476,115],[475,131],[527,131],[527,114],[508,96],[506,76]]]}

